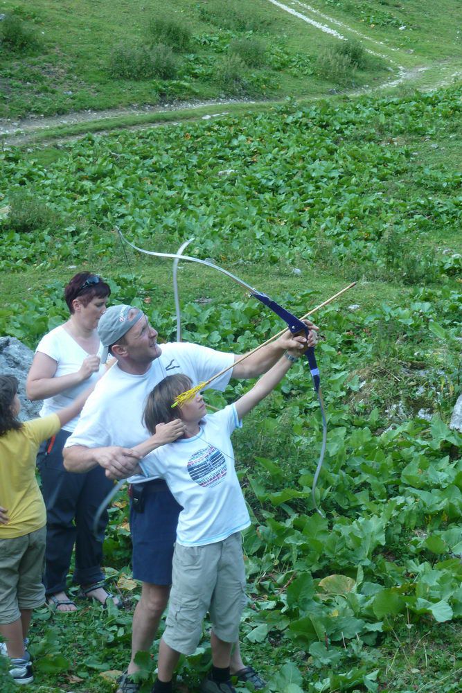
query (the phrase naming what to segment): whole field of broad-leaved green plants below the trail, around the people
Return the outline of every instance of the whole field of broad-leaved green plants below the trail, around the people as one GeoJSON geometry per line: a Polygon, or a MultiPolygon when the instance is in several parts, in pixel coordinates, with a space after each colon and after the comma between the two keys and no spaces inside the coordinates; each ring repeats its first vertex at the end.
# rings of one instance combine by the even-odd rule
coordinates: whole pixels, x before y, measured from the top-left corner
{"type": "MultiPolygon", "coordinates": [[[[461,436],[447,426],[461,387],[460,112],[460,87],[288,100],[242,119],[1,155],[0,331],[31,347],[62,321],[62,282],[81,265],[174,336],[170,268],[132,254],[127,265],[116,225],[165,251],[195,236],[191,254],[298,314],[359,280],[318,317],[325,517],[310,497],[321,427],[301,366],[235,439],[254,516],[243,648],[274,693],[460,690],[461,436]]],[[[189,266],[180,280],[186,340],[245,351],[281,328],[221,277],[189,266]]],[[[133,606],[128,537],[122,493],[105,561],[133,606]]],[[[38,690],[112,690],[130,608],[39,610],[38,690]]],[[[205,635],[181,663],[184,690],[209,658],[205,635]]],[[[155,659],[141,662],[149,690],[155,659]]]]}

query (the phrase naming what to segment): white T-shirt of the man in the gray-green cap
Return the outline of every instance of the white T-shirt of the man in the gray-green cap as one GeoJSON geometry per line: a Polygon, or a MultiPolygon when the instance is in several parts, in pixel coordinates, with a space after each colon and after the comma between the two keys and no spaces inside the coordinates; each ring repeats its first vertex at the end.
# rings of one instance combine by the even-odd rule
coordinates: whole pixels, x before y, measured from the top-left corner
{"type": "MultiPolygon", "coordinates": [[[[73,445],[132,448],[138,445],[150,437],[142,421],[143,411],[148,394],[157,383],[166,376],[181,373],[189,376],[194,387],[234,362],[233,354],[199,347],[198,344],[175,342],[159,346],[161,356],[154,359],[142,376],[125,373],[115,364],[96,383],[73,435],[66,441],[66,448],[73,445]]],[[[224,389],[231,378],[231,370],[214,380],[212,387],[224,389]]],[[[145,482],[148,479],[137,475],[130,477],[129,481],[145,482]]]]}

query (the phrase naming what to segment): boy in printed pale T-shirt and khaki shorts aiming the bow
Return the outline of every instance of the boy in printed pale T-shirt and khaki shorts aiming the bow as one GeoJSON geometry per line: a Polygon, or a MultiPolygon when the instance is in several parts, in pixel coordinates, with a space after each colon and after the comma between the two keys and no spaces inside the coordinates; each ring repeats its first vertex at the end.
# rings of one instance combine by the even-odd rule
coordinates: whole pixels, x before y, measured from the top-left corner
{"type": "Polygon", "coordinates": [[[183,507],[170,607],[159,645],[159,673],[152,693],[171,692],[179,656],[195,651],[207,611],[213,624],[213,666],[201,691],[235,692],[229,662],[246,602],[240,531],[249,526],[250,518],[234,468],[230,436],[242,426],[242,417],[272,392],[299,354],[286,352],[249,392],[216,414],[206,414],[200,394],[172,408],[175,398],[190,388],[191,381],[184,375],[168,376],[148,397],[144,420],[153,437],[134,448],[147,455],[139,468],[147,477],[164,478],[183,507]],[[175,421],[175,413],[184,424],[183,437],[153,450],[156,429],[159,433],[161,426],[175,421]]]}

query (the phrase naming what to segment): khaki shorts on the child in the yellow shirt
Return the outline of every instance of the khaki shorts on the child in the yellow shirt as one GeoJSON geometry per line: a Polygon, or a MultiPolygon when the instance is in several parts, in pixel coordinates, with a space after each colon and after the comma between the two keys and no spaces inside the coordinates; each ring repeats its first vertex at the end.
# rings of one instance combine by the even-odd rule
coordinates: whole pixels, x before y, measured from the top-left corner
{"type": "Polygon", "coordinates": [[[0,539],[0,624],[16,621],[21,609],[43,606],[45,541],[46,527],[0,539]]]}

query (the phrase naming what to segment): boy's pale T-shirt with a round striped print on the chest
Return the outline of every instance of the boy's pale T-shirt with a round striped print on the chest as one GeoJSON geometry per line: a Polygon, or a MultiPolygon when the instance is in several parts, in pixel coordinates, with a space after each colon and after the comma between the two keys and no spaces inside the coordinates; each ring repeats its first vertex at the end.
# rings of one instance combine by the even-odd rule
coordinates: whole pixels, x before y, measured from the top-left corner
{"type": "Polygon", "coordinates": [[[166,480],[183,507],[177,542],[184,546],[222,541],[250,525],[230,439],[233,430],[242,426],[236,407],[231,404],[208,414],[199,426],[194,437],[168,443],[140,462],[147,477],[166,480]]]}

